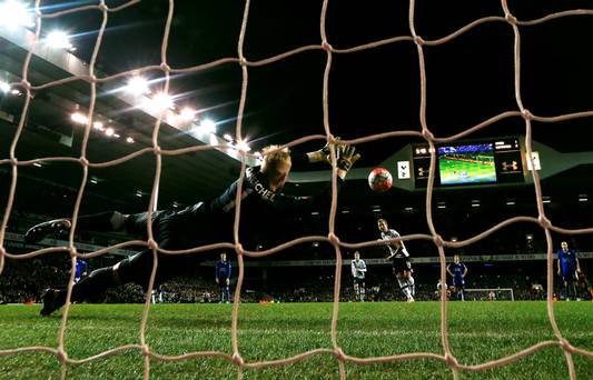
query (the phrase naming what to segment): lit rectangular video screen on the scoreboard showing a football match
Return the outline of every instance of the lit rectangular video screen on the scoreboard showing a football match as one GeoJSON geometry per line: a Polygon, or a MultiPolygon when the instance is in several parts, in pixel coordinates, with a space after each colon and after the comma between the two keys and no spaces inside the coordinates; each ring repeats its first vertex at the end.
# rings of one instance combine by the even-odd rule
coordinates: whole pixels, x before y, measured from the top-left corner
{"type": "Polygon", "coordinates": [[[441,184],[496,182],[492,143],[438,148],[441,184]]]}

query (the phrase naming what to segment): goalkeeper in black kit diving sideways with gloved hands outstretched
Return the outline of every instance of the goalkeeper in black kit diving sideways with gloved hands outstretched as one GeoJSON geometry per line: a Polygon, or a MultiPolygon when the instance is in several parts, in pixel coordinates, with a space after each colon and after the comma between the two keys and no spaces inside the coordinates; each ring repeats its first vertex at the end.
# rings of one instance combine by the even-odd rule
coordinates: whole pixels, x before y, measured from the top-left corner
{"type": "MultiPolygon", "coordinates": [[[[335,144],[337,151],[337,177],[340,184],[352,164],[359,159],[355,148],[340,142],[335,144]]],[[[317,197],[291,197],[280,192],[293,163],[329,161],[329,147],[305,154],[290,156],[288,149],[271,146],[264,150],[261,166],[246,170],[241,189],[240,236],[254,237],[275,219],[293,213],[305,212],[313,207],[322,207],[322,202],[330,200],[330,188],[317,197]]],[[[181,250],[192,247],[234,241],[235,200],[238,181],[217,198],[199,202],[182,210],[161,210],[152,212],[152,231],[158,247],[166,250],[181,250]]],[[[148,212],[122,214],[118,211],[102,212],[78,218],[77,229],[91,231],[126,231],[129,233],[147,233],[148,212]]],[[[46,236],[68,231],[69,219],[57,219],[37,224],[26,233],[27,242],[36,242],[46,236]]],[[[240,239],[243,241],[243,239],[240,239]]],[[[198,260],[196,254],[157,253],[158,267],[155,287],[192,271],[198,260]]],[[[92,271],[87,278],[72,288],[71,301],[81,302],[105,290],[134,282],[148,290],[152,272],[154,254],[147,249],[130,256],[112,267],[92,271]]],[[[66,303],[66,289],[48,289],[42,296],[42,316],[49,316],[66,303]]]]}

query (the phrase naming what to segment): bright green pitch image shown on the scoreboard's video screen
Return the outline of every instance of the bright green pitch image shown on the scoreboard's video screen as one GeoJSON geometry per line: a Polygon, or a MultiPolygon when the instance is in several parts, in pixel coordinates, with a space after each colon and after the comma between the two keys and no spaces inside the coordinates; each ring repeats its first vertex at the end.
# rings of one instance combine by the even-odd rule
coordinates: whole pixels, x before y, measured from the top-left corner
{"type": "Polygon", "coordinates": [[[496,181],[496,169],[490,164],[441,159],[438,160],[438,168],[443,184],[496,181]],[[463,172],[466,176],[462,176],[463,172]]]}

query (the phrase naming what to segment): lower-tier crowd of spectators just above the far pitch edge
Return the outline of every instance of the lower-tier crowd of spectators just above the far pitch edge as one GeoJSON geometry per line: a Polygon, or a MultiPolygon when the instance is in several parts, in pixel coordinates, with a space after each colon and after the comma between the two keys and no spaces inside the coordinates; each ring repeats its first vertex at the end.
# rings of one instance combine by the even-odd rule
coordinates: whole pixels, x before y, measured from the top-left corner
{"type": "MultiPolygon", "coordinates": [[[[92,270],[93,259],[89,260],[89,269],[92,270]]],[[[96,264],[101,266],[100,262],[96,264]]],[[[418,268],[418,276],[416,277],[415,299],[416,301],[437,300],[439,297],[436,292],[438,276],[422,276],[419,273],[422,269],[423,267],[418,268]]],[[[429,273],[427,267],[424,269],[425,273],[429,273]]],[[[0,276],[0,303],[39,302],[46,288],[59,288],[67,283],[69,280],[68,270],[69,259],[66,254],[62,258],[47,256],[28,260],[7,260],[3,272],[0,276]]],[[[209,273],[209,270],[207,272],[209,273]]],[[[294,277],[294,279],[297,278],[294,277]]],[[[231,282],[231,290],[234,286],[235,283],[231,282]]],[[[557,293],[560,293],[559,282],[555,286],[557,293]]],[[[582,299],[591,299],[591,287],[584,274],[579,287],[582,299]]],[[[488,288],[494,290],[511,288],[515,300],[544,300],[546,297],[544,281],[532,279],[528,276],[505,273],[504,271],[474,273],[473,277],[467,279],[466,288],[488,288]]],[[[369,278],[366,290],[367,301],[404,300],[396,281],[388,274],[369,278]]],[[[156,289],[158,294],[155,299],[157,302],[209,303],[218,302],[218,291],[219,288],[214,279],[208,276],[197,274],[196,277],[181,277],[166,282],[162,287],[156,289]]],[[[487,293],[476,294],[466,294],[466,300],[487,299],[487,293]]],[[[497,292],[496,296],[498,300],[508,298],[507,293],[497,292]]],[[[333,274],[320,278],[302,276],[298,278],[298,282],[295,280],[251,280],[248,287],[244,287],[240,298],[241,302],[332,302],[334,300],[333,274]]],[[[342,281],[339,299],[343,302],[356,300],[349,277],[345,277],[342,281]]],[[[145,300],[146,294],[140,287],[127,284],[109,290],[99,299],[91,300],[91,302],[142,303],[145,300]]]]}

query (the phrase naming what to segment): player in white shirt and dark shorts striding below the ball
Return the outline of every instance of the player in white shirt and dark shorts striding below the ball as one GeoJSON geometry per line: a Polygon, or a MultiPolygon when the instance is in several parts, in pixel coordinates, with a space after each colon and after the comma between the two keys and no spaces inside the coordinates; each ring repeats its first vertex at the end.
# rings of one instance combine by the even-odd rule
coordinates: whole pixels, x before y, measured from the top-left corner
{"type": "MultiPolygon", "coordinates": [[[[377,226],[383,240],[399,238],[399,233],[396,230],[388,228],[385,219],[379,219],[377,226]]],[[[412,277],[412,263],[409,262],[409,253],[406,250],[406,246],[404,246],[403,241],[392,241],[387,244],[387,249],[389,250],[389,256],[385,259],[392,261],[393,272],[399,283],[399,289],[402,289],[408,302],[414,302],[414,278],[412,277]]]]}

